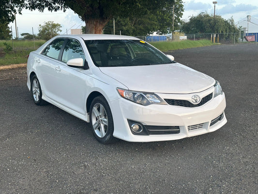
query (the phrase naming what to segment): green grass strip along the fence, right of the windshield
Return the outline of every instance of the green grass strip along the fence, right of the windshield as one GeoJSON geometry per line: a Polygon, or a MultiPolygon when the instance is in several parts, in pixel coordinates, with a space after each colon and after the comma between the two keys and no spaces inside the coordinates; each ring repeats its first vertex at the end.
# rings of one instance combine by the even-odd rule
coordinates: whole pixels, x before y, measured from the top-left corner
{"type": "Polygon", "coordinates": [[[150,44],[157,49],[166,52],[169,50],[178,50],[178,49],[189,49],[196,47],[206,47],[211,46],[213,43],[210,40],[183,40],[179,42],[150,42],[150,44]]]}

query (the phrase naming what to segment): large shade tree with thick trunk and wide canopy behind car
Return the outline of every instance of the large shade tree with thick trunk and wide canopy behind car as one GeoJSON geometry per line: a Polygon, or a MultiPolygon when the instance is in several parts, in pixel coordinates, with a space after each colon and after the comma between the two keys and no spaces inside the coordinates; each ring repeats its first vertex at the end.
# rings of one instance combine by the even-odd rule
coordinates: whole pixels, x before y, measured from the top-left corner
{"type": "Polygon", "coordinates": [[[26,8],[44,11],[72,9],[85,21],[86,33],[103,33],[106,23],[113,17],[145,16],[156,12],[175,0],[27,0],[26,8]]]}

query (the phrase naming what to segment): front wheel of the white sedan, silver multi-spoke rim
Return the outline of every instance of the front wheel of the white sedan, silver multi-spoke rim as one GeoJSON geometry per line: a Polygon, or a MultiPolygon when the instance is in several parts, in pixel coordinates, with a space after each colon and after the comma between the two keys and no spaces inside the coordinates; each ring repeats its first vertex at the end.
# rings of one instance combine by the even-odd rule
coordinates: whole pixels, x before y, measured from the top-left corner
{"type": "Polygon", "coordinates": [[[95,97],[90,107],[90,123],[95,138],[102,144],[116,141],[110,107],[103,96],[95,97]]]}

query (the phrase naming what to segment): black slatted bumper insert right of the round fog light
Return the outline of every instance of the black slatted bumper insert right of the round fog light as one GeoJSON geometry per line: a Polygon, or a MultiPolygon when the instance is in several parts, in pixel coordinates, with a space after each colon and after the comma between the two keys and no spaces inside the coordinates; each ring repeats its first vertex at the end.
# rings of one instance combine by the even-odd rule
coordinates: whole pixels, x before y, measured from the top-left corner
{"type": "Polygon", "coordinates": [[[179,126],[144,126],[150,135],[177,134],[180,133],[179,126]]]}

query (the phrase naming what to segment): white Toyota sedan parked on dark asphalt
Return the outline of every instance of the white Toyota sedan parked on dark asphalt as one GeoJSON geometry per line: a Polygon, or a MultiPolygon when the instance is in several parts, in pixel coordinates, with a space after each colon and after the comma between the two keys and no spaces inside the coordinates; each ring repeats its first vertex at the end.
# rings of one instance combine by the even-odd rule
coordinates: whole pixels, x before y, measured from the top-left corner
{"type": "Polygon", "coordinates": [[[59,35],[30,53],[27,73],[35,104],[90,122],[103,144],[182,139],[227,123],[218,81],[135,37],[59,35]]]}

